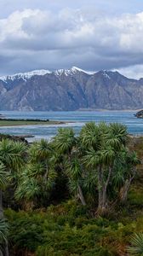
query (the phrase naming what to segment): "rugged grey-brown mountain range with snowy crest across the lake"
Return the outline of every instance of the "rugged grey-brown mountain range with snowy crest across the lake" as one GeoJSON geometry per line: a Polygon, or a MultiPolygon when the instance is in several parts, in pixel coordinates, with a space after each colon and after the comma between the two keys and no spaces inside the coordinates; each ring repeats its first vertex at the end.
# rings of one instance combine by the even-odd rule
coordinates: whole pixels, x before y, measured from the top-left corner
{"type": "Polygon", "coordinates": [[[80,68],[0,77],[0,110],[67,111],[143,108],[143,79],[80,68]]]}

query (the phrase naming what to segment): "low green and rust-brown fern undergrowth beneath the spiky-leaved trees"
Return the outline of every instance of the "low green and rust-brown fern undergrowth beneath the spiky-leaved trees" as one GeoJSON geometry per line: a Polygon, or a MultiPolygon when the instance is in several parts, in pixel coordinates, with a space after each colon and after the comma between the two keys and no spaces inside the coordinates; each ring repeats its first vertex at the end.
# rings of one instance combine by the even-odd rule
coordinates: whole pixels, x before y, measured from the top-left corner
{"type": "Polygon", "coordinates": [[[127,223],[89,218],[86,207],[75,201],[51,206],[44,212],[7,210],[5,215],[15,256],[21,251],[38,256],[122,256],[127,253],[130,236],[143,232],[143,217],[127,223]]]}

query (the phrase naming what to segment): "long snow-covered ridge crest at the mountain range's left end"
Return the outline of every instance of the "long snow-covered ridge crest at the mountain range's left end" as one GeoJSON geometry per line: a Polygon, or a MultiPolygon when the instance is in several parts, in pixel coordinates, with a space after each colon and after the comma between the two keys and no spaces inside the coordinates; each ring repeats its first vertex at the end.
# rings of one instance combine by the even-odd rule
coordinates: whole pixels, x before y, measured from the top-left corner
{"type": "Polygon", "coordinates": [[[27,73],[15,73],[13,75],[8,75],[8,76],[1,76],[0,80],[3,80],[3,82],[6,81],[14,81],[15,79],[23,79],[23,80],[27,80],[27,79],[31,79],[31,77],[37,75],[37,76],[43,76],[47,73],[51,73],[49,70],[45,70],[45,69],[40,69],[40,70],[33,70],[27,73]]]}

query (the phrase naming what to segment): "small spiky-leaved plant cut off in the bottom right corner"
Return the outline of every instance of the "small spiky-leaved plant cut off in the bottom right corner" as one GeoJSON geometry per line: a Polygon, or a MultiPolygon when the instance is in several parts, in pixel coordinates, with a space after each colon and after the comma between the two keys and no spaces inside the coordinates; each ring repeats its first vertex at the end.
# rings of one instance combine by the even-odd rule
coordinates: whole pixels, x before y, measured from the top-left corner
{"type": "Polygon", "coordinates": [[[133,255],[143,255],[143,234],[134,234],[131,238],[131,246],[128,247],[129,253],[133,255]]]}

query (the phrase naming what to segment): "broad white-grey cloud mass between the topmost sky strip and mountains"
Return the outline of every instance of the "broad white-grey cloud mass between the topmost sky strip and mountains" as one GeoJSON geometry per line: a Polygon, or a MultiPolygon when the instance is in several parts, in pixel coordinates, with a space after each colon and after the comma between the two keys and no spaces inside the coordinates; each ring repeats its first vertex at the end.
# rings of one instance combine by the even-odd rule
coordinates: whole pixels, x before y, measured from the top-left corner
{"type": "Polygon", "coordinates": [[[134,75],[141,67],[136,65],[143,64],[142,34],[143,12],[111,17],[92,9],[16,11],[0,20],[1,73],[72,65],[123,70],[135,65],[134,75]]]}

